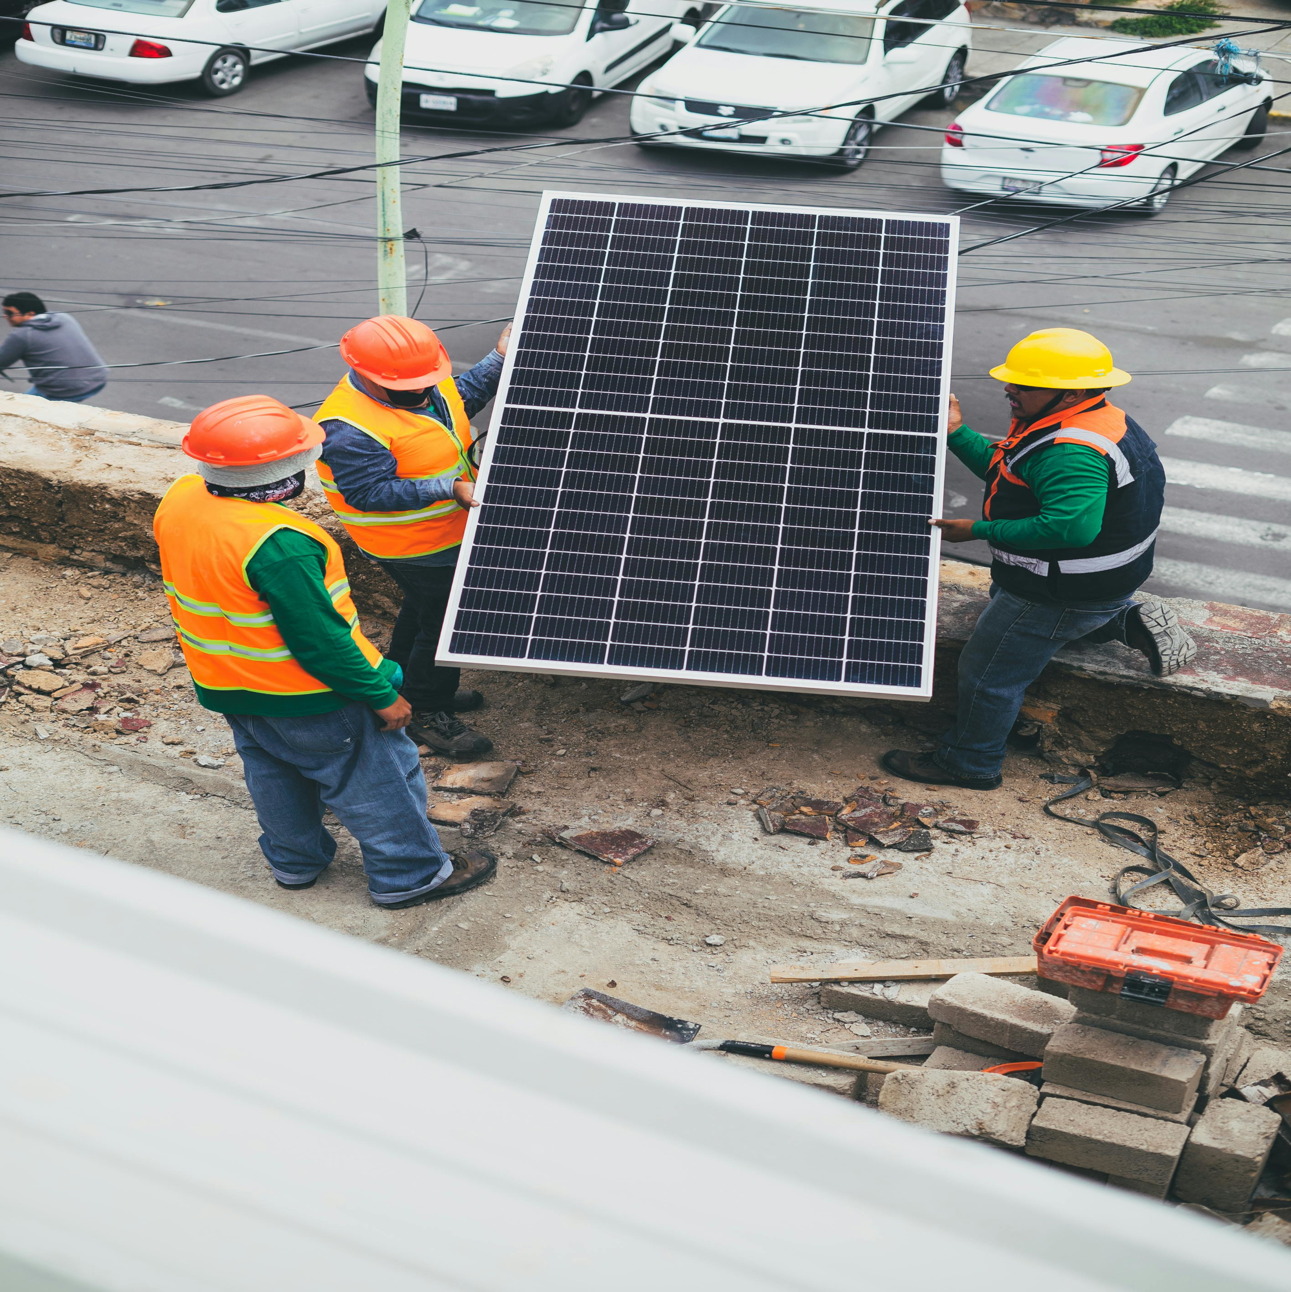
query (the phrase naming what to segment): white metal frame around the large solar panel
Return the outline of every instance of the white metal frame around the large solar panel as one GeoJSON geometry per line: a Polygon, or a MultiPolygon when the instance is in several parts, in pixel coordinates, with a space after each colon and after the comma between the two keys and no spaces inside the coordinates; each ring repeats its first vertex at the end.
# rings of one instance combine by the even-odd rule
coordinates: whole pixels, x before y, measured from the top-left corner
{"type": "MultiPolygon", "coordinates": [[[[941,225],[946,229],[948,234],[948,251],[946,251],[946,287],[945,287],[945,305],[944,314],[941,318],[942,326],[942,340],[941,340],[941,357],[940,357],[940,384],[939,384],[939,397],[936,406],[936,420],[933,422],[933,432],[930,435],[933,448],[933,481],[930,491],[930,509],[932,514],[940,510],[940,500],[945,479],[945,437],[941,428],[945,425],[946,410],[949,403],[950,393],[950,354],[953,345],[953,319],[954,319],[954,292],[955,292],[955,260],[958,248],[958,226],[959,221],[955,216],[928,216],[928,214],[915,214],[915,213],[897,213],[897,212],[884,212],[884,211],[865,211],[853,208],[834,208],[834,207],[797,207],[797,205],[778,205],[778,204],[759,204],[759,203],[731,203],[731,202],[701,202],[701,200],[687,200],[676,199],[671,202],[661,202],[649,198],[642,198],[638,195],[627,194],[602,194],[602,193],[567,193],[567,191],[545,191],[542,194],[542,200],[538,207],[537,222],[534,227],[533,242],[529,248],[529,258],[524,270],[524,279],[520,287],[519,305],[515,317],[515,326],[513,328],[511,342],[507,349],[506,363],[503,366],[501,382],[498,385],[497,402],[492,422],[492,433],[488,435],[484,444],[484,453],[479,469],[479,481],[476,484],[476,496],[484,501],[484,506],[471,509],[466,534],[462,540],[462,552],[457,562],[457,571],[453,579],[452,593],[449,597],[448,610],[444,616],[444,628],[440,634],[439,647],[436,651],[436,660],[445,665],[457,665],[463,668],[492,668],[492,669],[505,669],[511,672],[536,672],[536,673],[555,673],[565,674],[571,677],[603,677],[603,678],[639,678],[643,681],[653,682],[688,682],[695,685],[706,686],[732,686],[744,687],[750,690],[773,690],[773,691],[798,691],[803,694],[817,694],[817,695],[857,695],[857,696],[887,696],[899,698],[908,700],[927,700],[932,694],[932,664],[933,664],[933,650],[936,645],[936,616],[937,616],[937,567],[941,549],[941,531],[932,528],[930,536],[930,547],[927,552],[927,572],[923,578],[923,599],[924,599],[924,614],[922,618],[922,654],[918,662],[919,680],[917,685],[887,685],[875,682],[848,682],[846,680],[833,681],[822,678],[806,678],[806,677],[784,677],[784,676],[769,676],[769,674],[755,674],[755,673],[732,673],[732,672],[709,672],[702,669],[691,668],[667,668],[667,667],[642,667],[621,663],[591,663],[580,660],[559,660],[559,659],[541,659],[541,658],[515,658],[503,655],[491,655],[491,654],[475,654],[465,650],[453,650],[452,640],[454,633],[458,630],[458,614],[461,607],[461,601],[463,596],[463,589],[469,574],[473,570],[471,557],[473,545],[476,536],[476,531],[482,523],[483,518],[487,519],[488,509],[488,494],[489,494],[489,474],[493,468],[494,457],[498,451],[498,429],[503,425],[507,413],[513,410],[524,410],[532,413],[534,411],[533,404],[510,404],[509,394],[513,385],[516,385],[516,355],[523,353],[523,340],[525,336],[525,328],[529,322],[531,306],[532,306],[532,287],[534,276],[540,264],[540,252],[542,249],[544,238],[549,229],[549,213],[553,203],[556,202],[602,202],[602,203],[627,203],[634,207],[658,207],[658,208],[682,208],[683,218],[686,211],[692,209],[711,209],[711,211],[740,211],[740,212],[772,212],[772,213],[789,213],[793,216],[825,216],[825,217],[844,217],[849,220],[855,218],[870,218],[880,220],[884,222],[893,221],[915,221],[919,224],[933,224],[941,225]]],[[[816,261],[813,260],[813,264],[816,261]]],[[[589,342],[590,345],[590,342],[589,342]]],[[[554,410],[558,416],[574,415],[576,410],[568,407],[560,407],[554,410]]],[[[687,416],[683,413],[660,413],[660,412],[646,412],[646,413],[617,413],[617,412],[604,412],[604,416],[639,416],[644,426],[646,422],[661,417],[674,417],[675,420],[689,420],[695,421],[693,416],[687,416]]],[[[736,421],[741,424],[753,424],[753,419],[736,419],[726,417],[719,419],[720,421],[733,424],[736,421]]],[[[784,422],[767,424],[782,428],[784,422]]],[[[793,424],[793,430],[797,432],[799,426],[808,426],[808,422],[795,422],[793,424]]],[[[826,432],[834,432],[839,439],[848,434],[878,434],[882,428],[869,428],[862,430],[852,429],[844,426],[830,426],[820,428],[826,432]]],[[[900,434],[910,434],[910,432],[897,432],[900,434]]],[[[788,503],[785,504],[788,508],[788,503]]],[[[556,532],[554,527],[547,530],[549,535],[556,532]]],[[[882,532],[882,531],[879,531],[882,532]]],[[[546,549],[550,554],[550,543],[546,549]]],[[[777,552],[780,548],[777,548],[777,552]]],[[[855,553],[853,553],[855,556],[855,553]]],[[[621,557],[626,561],[626,556],[621,557]]],[[[855,571],[853,571],[855,572],[855,571]]],[[[620,576],[620,583],[622,576],[620,576]]],[[[851,589],[849,593],[851,596],[851,589]]],[[[617,603],[617,602],[616,602],[617,603]]],[[[662,602],[661,602],[662,605],[662,602]]],[[[692,602],[693,610],[695,602],[692,602]]],[[[469,610],[466,611],[470,612],[469,610]]],[[[534,614],[533,618],[537,618],[534,614]]],[[[693,614],[692,614],[693,623],[693,614]]],[[[478,634],[474,634],[478,636],[478,634]]],[[[532,636],[532,634],[531,634],[532,636]]],[[[571,638],[565,638],[571,640],[571,638]]],[[[844,640],[844,651],[847,643],[851,641],[848,636],[844,640]]],[[[846,674],[847,659],[843,659],[843,672],[846,674]]]]}

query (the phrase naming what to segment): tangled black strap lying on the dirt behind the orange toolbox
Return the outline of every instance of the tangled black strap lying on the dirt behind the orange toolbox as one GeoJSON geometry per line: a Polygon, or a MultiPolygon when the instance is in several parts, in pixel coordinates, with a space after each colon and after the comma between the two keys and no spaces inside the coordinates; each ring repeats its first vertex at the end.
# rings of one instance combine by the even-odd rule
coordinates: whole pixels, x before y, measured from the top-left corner
{"type": "MultiPolygon", "coordinates": [[[[1168,773],[1167,773],[1168,775],[1168,773]]],[[[1291,915],[1291,906],[1242,907],[1241,898],[1232,893],[1212,893],[1183,862],[1176,860],[1161,848],[1157,823],[1149,817],[1140,817],[1132,811],[1105,811],[1093,820],[1082,820],[1078,817],[1066,817],[1060,811],[1053,811],[1053,804],[1062,802],[1064,798],[1074,798],[1093,786],[1093,778],[1088,774],[1083,776],[1064,776],[1056,771],[1044,776],[1055,784],[1070,784],[1072,788],[1061,795],[1050,798],[1044,804],[1044,813],[1057,820],[1065,820],[1070,826],[1084,826],[1087,829],[1096,829],[1109,844],[1123,848],[1126,851],[1136,853],[1150,862],[1150,866],[1131,863],[1117,871],[1112,881],[1112,895],[1119,906],[1133,907],[1131,898],[1157,884],[1168,884],[1175,895],[1183,902],[1180,911],[1167,912],[1177,920],[1195,920],[1198,924],[1210,924],[1217,928],[1235,929],[1239,933],[1263,933],[1272,938],[1291,937],[1291,928],[1285,924],[1235,924],[1239,920],[1251,920],[1256,916],[1291,915]],[[1128,826],[1115,824],[1115,822],[1132,822],[1143,827],[1148,835],[1131,829],[1128,826]],[[1143,875],[1145,879],[1133,884],[1126,884],[1126,876],[1143,875]],[[1219,912],[1225,912],[1220,915],[1219,912]]],[[[1179,778],[1175,776],[1175,783],[1179,778]]],[[[1148,907],[1136,907],[1149,910],[1148,907]]]]}

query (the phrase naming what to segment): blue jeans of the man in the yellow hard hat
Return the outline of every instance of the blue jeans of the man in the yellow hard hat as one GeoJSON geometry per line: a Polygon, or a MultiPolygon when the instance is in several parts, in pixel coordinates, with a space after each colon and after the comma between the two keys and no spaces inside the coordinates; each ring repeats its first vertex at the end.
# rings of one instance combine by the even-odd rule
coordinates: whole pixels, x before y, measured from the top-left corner
{"type": "Polygon", "coordinates": [[[991,584],[959,655],[959,713],[936,760],[962,776],[998,776],[1026,687],[1068,642],[1126,640],[1132,596],[1112,601],[1028,601],[991,584]]]}

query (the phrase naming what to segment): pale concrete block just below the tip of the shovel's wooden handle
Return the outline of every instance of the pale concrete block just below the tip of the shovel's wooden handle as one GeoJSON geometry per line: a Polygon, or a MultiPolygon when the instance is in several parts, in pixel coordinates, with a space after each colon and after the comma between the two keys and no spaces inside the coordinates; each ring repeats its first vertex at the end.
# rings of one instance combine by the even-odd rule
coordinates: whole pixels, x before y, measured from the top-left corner
{"type": "Polygon", "coordinates": [[[888,1075],[879,1111],[942,1134],[1020,1149],[1038,1099],[1034,1087],[1010,1076],[919,1068],[888,1075]]]}

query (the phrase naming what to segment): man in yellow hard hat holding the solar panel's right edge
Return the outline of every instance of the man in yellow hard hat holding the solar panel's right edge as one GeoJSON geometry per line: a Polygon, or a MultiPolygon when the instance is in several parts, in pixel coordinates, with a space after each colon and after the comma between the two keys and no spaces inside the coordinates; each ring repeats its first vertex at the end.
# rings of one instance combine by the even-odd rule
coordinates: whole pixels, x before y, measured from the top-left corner
{"type": "Polygon", "coordinates": [[[990,603],[959,656],[959,712],[931,753],[892,749],[883,766],[924,784],[995,789],[1026,687],[1073,641],[1122,642],[1174,673],[1197,654],[1174,610],[1139,598],[1150,576],[1166,477],[1144,429],[1108,402],[1130,373],[1077,328],[1022,337],[990,370],[1008,434],[963,425],[950,397],[948,447],[986,482],[980,521],[932,521],[948,543],[985,539],[990,603]]]}

